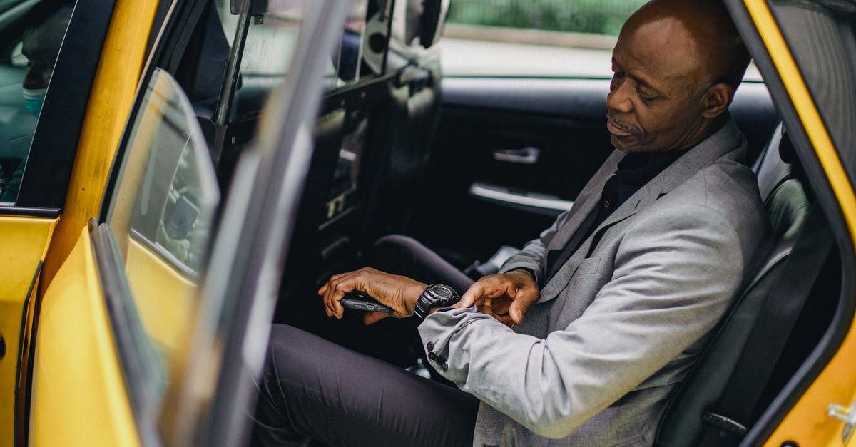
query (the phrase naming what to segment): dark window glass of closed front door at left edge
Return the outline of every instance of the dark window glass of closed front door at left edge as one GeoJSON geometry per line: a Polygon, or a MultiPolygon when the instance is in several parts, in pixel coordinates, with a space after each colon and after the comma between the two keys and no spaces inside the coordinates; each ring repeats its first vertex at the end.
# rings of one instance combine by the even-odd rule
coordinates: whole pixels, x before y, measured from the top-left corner
{"type": "Polygon", "coordinates": [[[0,203],[18,197],[27,154],[39,112],[51,81],[56,56],[74,2],[41,2],[13,8],[24,1],[4,2],[0,35],[0,203]]]}

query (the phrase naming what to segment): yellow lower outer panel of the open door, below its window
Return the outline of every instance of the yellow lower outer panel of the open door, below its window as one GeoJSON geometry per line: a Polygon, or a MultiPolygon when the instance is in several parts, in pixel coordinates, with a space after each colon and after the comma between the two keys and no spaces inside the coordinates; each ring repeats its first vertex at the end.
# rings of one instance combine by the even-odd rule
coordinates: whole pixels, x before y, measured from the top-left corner
{"type": "Polygon", "coordinates": [[[45,291],[39,312],[29,444],[137,445],[90,229],[45,291]]]}

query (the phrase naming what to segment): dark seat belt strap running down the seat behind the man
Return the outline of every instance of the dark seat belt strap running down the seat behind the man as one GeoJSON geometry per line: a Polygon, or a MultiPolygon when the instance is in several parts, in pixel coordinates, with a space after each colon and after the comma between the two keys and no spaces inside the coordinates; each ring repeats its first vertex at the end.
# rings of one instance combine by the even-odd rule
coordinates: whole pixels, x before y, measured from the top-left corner
{"type": "Polygon", "coordinates": [[[829,258],[835,237],[820,206],[812,207],[794,243],[788,264],[764,298],[728,385],[714,411],[702,415],[699,446],[737,445],[746,435],[752,412],[776,367],[811,288],[829,258]]]}

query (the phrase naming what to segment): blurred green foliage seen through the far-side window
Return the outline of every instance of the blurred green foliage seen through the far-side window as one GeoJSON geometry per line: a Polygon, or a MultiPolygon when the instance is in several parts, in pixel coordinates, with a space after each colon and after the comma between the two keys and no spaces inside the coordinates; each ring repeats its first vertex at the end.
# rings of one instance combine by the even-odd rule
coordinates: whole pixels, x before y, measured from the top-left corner
{"type": "Polygon", "coordinates": [[[452,0],[448,21],[617,35],[645,0],[452,0]]]}

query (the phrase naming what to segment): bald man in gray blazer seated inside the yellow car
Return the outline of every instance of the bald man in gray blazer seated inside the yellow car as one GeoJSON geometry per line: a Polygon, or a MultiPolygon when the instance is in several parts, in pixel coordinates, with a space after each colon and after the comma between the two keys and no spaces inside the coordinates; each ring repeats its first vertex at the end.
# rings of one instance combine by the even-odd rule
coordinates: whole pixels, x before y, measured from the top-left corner
{"type": "Polygon", "coordinates": [[[613,51],[617,151],[571,212],[452,307],[431,305],[442,287],[372,269],[319,290],[337,318],[352,290],[393,317],[425,311],[427,358],[460,390],[277,326],[255,439],[651,445],[669,392],[765,252],[746,140],[728,115],[748,58],[721,3],[639,9],[613,51]]]}

